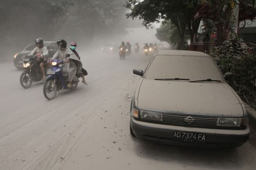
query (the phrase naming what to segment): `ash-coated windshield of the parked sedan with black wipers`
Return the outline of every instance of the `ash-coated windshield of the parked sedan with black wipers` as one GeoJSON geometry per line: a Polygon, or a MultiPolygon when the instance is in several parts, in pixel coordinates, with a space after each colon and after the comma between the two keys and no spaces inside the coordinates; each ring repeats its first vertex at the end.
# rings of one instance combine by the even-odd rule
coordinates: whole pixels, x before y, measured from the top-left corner
{"type": "MultiPolygon", "coordinates": [[[[200,56],[156,56],[145,75],[147,79],[222,80],[214,61],[200,56]]],[[[215,82],[216,83],[216,82],[215,82]]]]}

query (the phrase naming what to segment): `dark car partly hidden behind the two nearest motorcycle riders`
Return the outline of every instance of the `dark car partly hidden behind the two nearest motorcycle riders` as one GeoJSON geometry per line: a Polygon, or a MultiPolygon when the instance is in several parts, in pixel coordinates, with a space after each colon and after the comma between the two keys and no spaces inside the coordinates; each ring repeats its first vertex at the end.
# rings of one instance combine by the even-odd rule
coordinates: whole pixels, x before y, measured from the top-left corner
{"type": "MultiPolygon", "coordinates": [[[[53,55],[58,50],[57,43],[55,41],[45,41],[43,42],[43,45],[45,45],[49,51],[49,58],[52,58],[53,55]]],[[[34,48],[35,48],[35,43],[31,43],[30,45],[25,47],[24,50],[14,55],[13,63],[17,69],[23,69],[23,58],[26,55],[30,54],[34,48]]]]}

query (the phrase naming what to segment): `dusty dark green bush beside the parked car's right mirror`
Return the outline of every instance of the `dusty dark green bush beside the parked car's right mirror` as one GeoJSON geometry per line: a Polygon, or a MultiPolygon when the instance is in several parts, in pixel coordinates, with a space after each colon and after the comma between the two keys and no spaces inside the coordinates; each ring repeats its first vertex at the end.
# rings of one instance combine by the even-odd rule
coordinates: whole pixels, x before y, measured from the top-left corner
{"type": "Polygon", "coordinates": [[[243,100],[251,102],[256,92],[256,57],[248,53],[248,50],[242,39],[230,38],[215,48],[211,56],[214,57],[223,74],[233,73],[229,84],[243,100]]]}

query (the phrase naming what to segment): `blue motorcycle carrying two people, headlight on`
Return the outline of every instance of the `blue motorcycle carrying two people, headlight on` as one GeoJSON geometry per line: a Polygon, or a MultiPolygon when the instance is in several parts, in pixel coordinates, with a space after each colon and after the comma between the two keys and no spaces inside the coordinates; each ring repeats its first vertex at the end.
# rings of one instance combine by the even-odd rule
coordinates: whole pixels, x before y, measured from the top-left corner
{"type": "MultiPolygon", "coordinates": [[[[68,56],[66,56],[68,57],[68,56]]],[[[46,82],[43,85],[43,95],[47,100],[52,100],[60,90],[75,90],[78,85],[78,78],[81,75],[76,75],[77,81],[73,80],[72,87],[68,88],[68,77],[62,75],[63,60],[52,60],[52,67],[47,71],[46,82]]]]}

